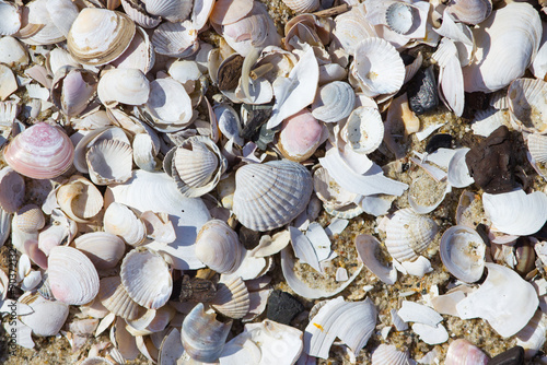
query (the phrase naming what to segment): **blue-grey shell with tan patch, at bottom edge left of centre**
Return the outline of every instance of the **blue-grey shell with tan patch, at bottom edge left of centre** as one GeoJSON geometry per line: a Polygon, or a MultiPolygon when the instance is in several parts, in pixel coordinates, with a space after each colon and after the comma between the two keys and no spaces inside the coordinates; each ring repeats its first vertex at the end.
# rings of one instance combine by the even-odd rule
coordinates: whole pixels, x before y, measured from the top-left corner
{"type": "Polygon", "coordinates": [[[181,338],[184,350],[191,358],[211,363],[222,353],[232,321],[222,323],[216,317],[199,303],[184,319],[181,338]]]}

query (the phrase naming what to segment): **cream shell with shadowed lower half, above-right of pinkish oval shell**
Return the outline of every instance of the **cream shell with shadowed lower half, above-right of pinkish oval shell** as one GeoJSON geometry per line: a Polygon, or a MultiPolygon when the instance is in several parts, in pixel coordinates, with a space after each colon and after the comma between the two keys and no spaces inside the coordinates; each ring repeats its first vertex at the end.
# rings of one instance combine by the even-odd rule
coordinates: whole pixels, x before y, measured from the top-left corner
{"type": "Polygon", "coordinates": [[[126,251],[121,238],[106,232],[83,234],[74,239],[74,247],[85,254],[97,269],[114,268],[126,251]]]}

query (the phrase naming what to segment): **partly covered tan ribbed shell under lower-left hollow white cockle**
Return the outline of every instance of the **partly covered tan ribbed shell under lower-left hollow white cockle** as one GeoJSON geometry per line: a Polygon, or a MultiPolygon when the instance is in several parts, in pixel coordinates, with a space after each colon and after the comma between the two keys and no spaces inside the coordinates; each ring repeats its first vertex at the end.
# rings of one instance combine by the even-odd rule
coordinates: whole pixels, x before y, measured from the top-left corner
{"type": "Polygon", "coordinates": [[[146,308],[138,305],[129,297],[127,291],[121,285],[119,276],[109,276],[101,279],[101,287],[97,298],[113,314],[129,320],[137,319],[144,315],[146,308]]]}

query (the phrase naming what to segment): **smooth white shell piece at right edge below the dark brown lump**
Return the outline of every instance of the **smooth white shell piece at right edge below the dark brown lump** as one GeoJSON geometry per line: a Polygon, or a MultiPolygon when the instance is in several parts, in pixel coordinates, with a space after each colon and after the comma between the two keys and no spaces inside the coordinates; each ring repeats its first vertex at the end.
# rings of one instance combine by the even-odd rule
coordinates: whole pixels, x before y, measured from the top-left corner
{"type": "Polygon", "coordinates": [[[522,189],[503,193],[482,193],[482,205],[496,229],[510,235],[527,236],[536,233],[547,221],[547,195],[522,189]]]}

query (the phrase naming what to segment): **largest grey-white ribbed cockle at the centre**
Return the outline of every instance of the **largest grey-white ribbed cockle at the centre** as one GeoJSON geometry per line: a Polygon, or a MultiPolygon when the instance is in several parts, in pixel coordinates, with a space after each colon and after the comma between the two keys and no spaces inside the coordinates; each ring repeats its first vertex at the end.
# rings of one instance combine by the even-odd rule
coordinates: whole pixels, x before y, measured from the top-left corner
{"type": "Polygon", "coordinates": [[[295,162],[245,165],[235,173],[233,212],[249,229],[274,229],[306,208],[312,190],[312,175],[295,162]]]}

